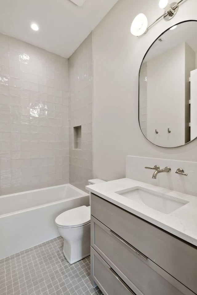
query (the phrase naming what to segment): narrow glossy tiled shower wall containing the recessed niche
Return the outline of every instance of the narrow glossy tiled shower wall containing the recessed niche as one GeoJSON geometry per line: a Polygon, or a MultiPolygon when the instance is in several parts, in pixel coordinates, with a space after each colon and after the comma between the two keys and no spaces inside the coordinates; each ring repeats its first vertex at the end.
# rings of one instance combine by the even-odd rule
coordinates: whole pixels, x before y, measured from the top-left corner
{"type": "Polygon", "coordinates": [[[92,33],[69,58],[70,183],[85,190],[92,179],[92,33]],[[81,149],[73,147],[73,128],[81,126],[81,149]]]}

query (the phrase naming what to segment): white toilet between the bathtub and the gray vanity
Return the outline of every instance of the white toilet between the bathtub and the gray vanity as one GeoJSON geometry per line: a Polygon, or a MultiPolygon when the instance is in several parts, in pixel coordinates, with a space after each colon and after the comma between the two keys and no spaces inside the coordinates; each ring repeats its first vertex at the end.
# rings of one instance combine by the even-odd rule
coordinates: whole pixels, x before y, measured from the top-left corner
{"type": "MultiPolygon", "coordinates": [[[[89,184],[105,182],[91,179],[89,184]]],[[[90,206],[81,206],[58,215],[55,223],[64,238],[63,254],[72,264],[90,255],[90,206]]]]}

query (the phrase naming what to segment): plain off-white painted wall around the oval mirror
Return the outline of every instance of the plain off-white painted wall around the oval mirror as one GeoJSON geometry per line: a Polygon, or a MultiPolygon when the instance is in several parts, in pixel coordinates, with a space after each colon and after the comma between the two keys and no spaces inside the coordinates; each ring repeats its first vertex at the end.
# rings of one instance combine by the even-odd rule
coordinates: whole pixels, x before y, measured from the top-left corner
{"type": "Polygon", "coordinates": [[[138,74],[152,42],[169,26],[197,19],[196,0],[185,1],[169,22],[156,23],[145,35],[132,36],[131,22],[138,13],[153,22],[162,14],[158,0],[119,0],[94,29],[94,177],[125,177],[126,155],[196,160],[197,141],[180,148],[159,148],[149,143],[138,123],[138,74]]]}

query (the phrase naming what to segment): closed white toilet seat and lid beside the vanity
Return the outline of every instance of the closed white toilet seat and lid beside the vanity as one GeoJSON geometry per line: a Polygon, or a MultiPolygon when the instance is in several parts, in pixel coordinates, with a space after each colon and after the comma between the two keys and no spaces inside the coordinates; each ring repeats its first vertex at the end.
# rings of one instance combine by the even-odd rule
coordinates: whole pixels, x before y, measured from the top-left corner
{"type": "Polygon", "coordinates": [[[81,206],[67,210],[55,219],[58,227],[72,228],[90,223],[90,206],[81,206]]]}

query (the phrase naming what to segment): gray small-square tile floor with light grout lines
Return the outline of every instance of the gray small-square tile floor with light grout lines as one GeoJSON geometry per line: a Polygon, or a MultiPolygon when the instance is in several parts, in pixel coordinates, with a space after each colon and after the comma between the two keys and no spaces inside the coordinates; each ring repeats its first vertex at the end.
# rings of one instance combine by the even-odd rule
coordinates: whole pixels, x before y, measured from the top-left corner
{"type": "Polygon", "coordinates": [[[90,257],[70,265],[55,238],[0,260],[1,295],[103,295],[90,284],[90,257]]]}

